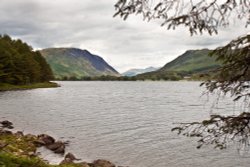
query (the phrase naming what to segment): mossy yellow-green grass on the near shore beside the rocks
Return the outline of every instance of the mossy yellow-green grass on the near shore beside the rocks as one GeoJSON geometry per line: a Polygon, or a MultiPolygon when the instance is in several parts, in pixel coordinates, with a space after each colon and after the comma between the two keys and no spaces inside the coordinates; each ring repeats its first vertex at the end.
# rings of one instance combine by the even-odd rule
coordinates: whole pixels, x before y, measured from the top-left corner
{"type": "Polygon", "coordinates": [[[36,151],[35,136],[17,136],[0,134],[0,144],[8,144],[0,149],[0,167],[84,167],[80,164],[50,165],[37,156],[30,156],[36,151]]]}

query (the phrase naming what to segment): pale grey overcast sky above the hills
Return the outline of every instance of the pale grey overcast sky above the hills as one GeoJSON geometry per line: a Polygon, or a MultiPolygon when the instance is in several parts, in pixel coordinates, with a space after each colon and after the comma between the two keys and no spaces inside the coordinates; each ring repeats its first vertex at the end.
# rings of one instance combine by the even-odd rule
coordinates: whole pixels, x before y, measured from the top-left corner
{"type": "Polygon", "coordinates": [[[235,23],[219,35],[191,37],[141,17],[113,18],[116,0],[0,0],[0,33],[35,49],[76,47],[103,57],[119,72],[160,67],[188,49],[215,48],[249,32],[235,23]]]}

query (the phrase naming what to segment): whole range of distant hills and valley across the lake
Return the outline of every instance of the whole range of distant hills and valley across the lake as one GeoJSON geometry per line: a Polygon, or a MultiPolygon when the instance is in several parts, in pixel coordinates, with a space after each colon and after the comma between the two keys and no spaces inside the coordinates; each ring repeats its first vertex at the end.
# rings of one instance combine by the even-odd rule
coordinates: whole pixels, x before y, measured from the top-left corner
{"type": "Polygon", "coordinates": [[[101,57],[76,48],[49,48],[40,51],[56,79],[60,80],[181,80],[203,79],[220,66],[212,50],[188,50],[162,68],[131,69],[120,75],[101,57]]]}

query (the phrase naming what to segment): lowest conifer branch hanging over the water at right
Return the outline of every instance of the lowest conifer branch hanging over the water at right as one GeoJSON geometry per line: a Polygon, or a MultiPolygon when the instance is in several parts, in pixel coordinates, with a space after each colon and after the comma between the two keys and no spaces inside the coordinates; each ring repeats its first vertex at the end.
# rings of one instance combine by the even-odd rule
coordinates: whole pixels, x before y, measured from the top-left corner
{"type": "Polygon", "coordinates": [[[213,144],[215,148],[224,149],[230,142],[237,141],[241,148],[249,146],[250,113],[243,112],[238,116],[211,115],[202,122],[182,123],[172,131],[188,137],[199,137],[197,148],[213,144]]]}

